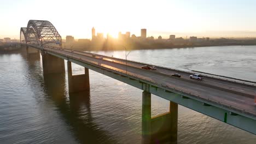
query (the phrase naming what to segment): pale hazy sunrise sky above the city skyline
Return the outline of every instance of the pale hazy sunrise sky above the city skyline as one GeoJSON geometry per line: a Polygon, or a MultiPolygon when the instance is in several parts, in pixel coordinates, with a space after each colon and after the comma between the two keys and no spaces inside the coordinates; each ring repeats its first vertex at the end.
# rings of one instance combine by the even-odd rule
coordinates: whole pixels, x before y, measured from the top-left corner
{"type": "Polygon", "coordinates": [[[141,28],[154,37],[256,37],[255,0],[0,0],[0,14],[0,39],[19,39],[28,20],[50,21],[63,38],[91,38],[93,26],[114,37],[141,28]]]}

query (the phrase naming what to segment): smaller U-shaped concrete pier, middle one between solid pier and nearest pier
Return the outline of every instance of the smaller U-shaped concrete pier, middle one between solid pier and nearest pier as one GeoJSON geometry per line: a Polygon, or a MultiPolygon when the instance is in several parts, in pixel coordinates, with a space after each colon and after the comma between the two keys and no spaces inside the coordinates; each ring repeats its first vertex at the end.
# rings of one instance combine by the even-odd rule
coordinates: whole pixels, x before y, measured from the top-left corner
{"type": "Polygon", "coordinates": [[[68,91],[69,93],[82,92],[90,90],[90,80],[89,80],[89,69],[85,69],[85,74],[82,75],[72,75],[72,65],[71,62],[67,62],[68,69],[68,91]]]}

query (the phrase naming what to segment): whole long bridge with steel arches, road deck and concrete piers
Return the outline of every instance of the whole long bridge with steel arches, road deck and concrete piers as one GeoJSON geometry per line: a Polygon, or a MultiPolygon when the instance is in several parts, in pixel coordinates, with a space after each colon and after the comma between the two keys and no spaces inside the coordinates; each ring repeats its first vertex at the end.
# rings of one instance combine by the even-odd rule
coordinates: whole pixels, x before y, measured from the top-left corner
{"type": "Polygon", "coordinates": [[[20,43],[27,53],[40,51],[44,75],[65,73],[67,60],[69,93],[90,89],[89,69],[142,89],[142,143],[177,143],[178,105],[256,134],[255,82],[211,74],[198,81],[189,79],[190,71],[158,65],[146,70],[141,67],[151,64],[62,49],[61,36],[49,21],[30,20],[20,30],[20,43]],[[72,75],[72,63],[84,67],[85,74],[72,75]],[[175,73],[182,77],[171,76],[175,73]],[[170,112],[152,117],[151,94],[170,101],[170,112]]]}

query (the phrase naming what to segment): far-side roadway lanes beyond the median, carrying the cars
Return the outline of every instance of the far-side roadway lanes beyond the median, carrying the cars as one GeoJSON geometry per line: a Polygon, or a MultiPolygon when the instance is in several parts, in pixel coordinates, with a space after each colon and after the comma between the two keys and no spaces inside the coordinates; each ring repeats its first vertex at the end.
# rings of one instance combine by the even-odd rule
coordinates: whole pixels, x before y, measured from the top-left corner
{"type": "MultiPolygon", "coordinates": [[[[67,50],[65,49],[65,51],[70,51],[71,50],[67,50]]],[[[81,55],[86,55],[86,56],[91,56],[92,57],[92,53],[88,53],[88,52],[81,52],[81,51],[73,51],[73,53],[79,53],[81,55]]],[[[101,55],[96,55],[96,58],[100,58],[101,55]]],[[[121,63],[121,64],[126,64],[125,59],[118,59],[118,58],[112,58],[112,57],[106,57],[106,56],[102,56],[104,60],[106,61],[111,61],[111,62],[115,62],[115,63],[121,63]]],[[[127,61],[127,65],[130,65],[132,67],[137,67],[137,68],[141,68],[142,65],[141,63],[138,62],[132,62],[132,61],[127,61]]],[[[187,81],[193,81],[193,82],[200,82],[202,85],[210,85],[213,87],[219,87],[221,89],[227,89],[228,91],[233,91],[235,94],[244,94],[247,97],[254,97],[256,96],[256,86],[246,86],[243,85],[239,82],[229,82],[229,81],[225,81],[225,80],[221,80],[221,79],[216,79],[216,78],[212,78],[212,77],[205,77],[205,79],[203,79],[202,81],[198,81],[195,79],[190,79],[189,75],[193,74],[193,73],[184,73],[183,71],[177,71],[177,70],[172,70],[172,69],[164,69],[161,67],[157,67],[156,66],[156,70],[154,70],[155,72],[158,73],[162,73],[162,74],[166,74],[166,75],[172,75],[172,74],[181,74],[182,77],[181,79],[185,79],[187,81]]]]}

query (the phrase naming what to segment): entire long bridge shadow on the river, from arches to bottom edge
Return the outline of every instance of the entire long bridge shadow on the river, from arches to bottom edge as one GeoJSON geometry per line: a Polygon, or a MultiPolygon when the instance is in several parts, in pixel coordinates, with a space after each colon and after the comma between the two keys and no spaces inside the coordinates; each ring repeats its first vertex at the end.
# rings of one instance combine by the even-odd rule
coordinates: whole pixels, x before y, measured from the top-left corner
{"type": "Polygon", "coordinates": [[[40,55],[27,57],[26,53],[22,52],[21,56],[27,63],[27,77],[31,79],[34,93],[40,94],[37,97],[46,95],[46,100],[53,101],[75,140],[79,143],[117,143],[107,131],[102,130],[94,122],[91,114],[90,91],[68,94],[65,74],[43,75],[40,55]]]}

